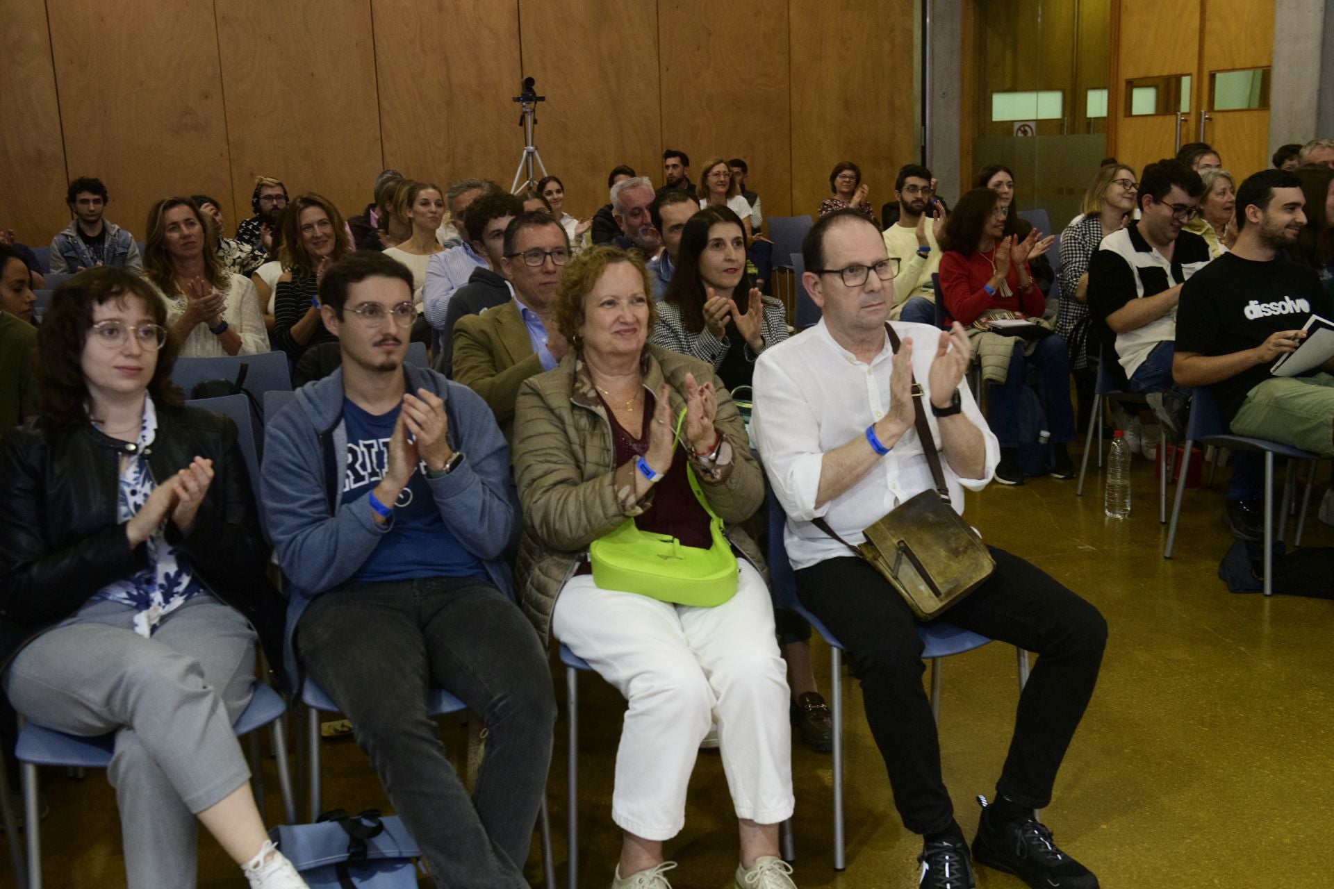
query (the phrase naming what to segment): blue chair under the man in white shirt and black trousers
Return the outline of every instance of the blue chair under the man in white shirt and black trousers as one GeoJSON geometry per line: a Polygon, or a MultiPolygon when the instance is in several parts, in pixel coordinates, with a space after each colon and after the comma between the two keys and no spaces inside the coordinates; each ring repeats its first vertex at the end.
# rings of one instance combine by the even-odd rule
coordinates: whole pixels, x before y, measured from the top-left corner
{"type": "MultiPolygon", "coordinates": [[[[834,722],[834,869],[843,870],[847,866],[843,821],[843,644],[796,597],[796,573],[787,558],[787,546],[783,542],[787,514],[771,489],[766,493],[766,501],[768,504],[768,577],[774,592],[774,604],[800,614],[830,646],[830,710],[834,722]]],[[[991,640],[939,621],[918,625],[918,637],[924,646],[922,649],[923,660],[931,661],[931,716],[939,725],[942,660],[951,654],[982,648],[991,640]]],[[[1015,650],[1019,658],[1019,690],[1022,692],[1029,682],[1029,653],[1018,646],[1015,650]]]]}

